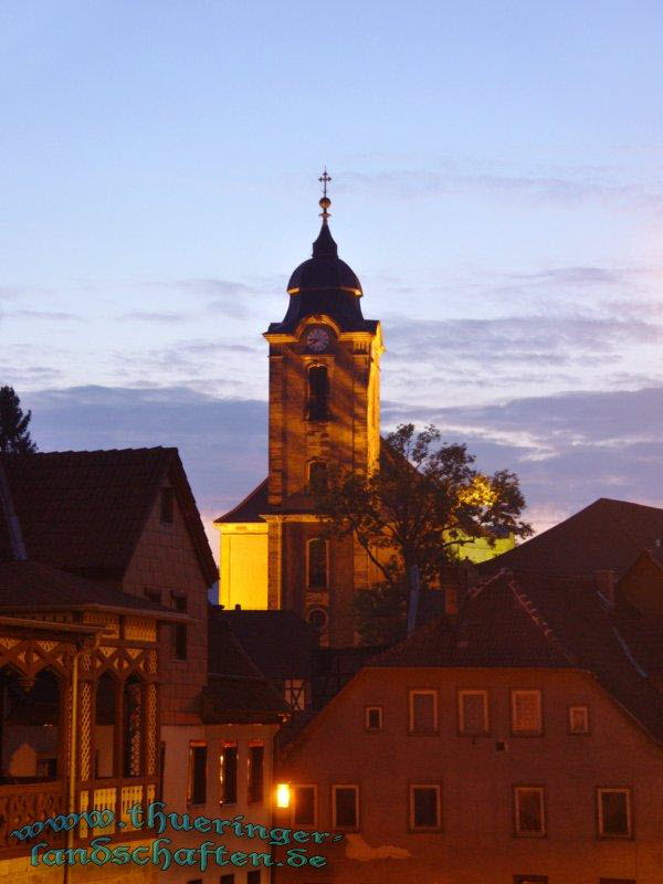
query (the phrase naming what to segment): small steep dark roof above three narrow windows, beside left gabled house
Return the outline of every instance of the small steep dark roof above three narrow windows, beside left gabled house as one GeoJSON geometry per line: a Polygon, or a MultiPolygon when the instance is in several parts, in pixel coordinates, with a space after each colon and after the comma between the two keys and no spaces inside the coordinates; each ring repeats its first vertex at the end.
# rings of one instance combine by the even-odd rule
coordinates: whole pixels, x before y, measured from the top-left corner
{"type": "Polygon", "coordinates": [[[202,715],[208,724],[281,722],[288,714],[283,697],[257,669],[228,622],[208,611],[208,685],[202,715]]]}

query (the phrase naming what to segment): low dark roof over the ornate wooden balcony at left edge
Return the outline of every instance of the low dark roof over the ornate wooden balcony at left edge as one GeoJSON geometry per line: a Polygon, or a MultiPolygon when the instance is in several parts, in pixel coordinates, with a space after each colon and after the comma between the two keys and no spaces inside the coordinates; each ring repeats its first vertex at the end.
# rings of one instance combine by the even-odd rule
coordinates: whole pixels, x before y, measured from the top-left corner
{"type": "Polygon", "coordinates": [[[36,561],[0,562],[0,610],[103,608],[159,619],[186,619],[161,604],[36,561]]]}

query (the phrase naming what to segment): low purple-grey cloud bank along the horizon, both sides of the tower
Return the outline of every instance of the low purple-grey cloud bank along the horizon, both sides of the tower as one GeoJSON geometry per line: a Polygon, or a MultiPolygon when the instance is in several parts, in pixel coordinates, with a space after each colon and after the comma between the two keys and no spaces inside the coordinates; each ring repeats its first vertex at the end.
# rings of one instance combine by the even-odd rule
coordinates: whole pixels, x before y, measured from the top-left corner
{"type": "MultiPolygon", "coordinates": [[[[25,393],[42,450],[177,445],[207,513],[230,508],[266,472],[265,402],[183,387],[77,387],[25,393]]],[[[434,421],[482,470],[515,470],[529,518],[548,527],[600,496],[663,505],[663,386],[441,408],[383,402],[383,425],[434,421]]]]}

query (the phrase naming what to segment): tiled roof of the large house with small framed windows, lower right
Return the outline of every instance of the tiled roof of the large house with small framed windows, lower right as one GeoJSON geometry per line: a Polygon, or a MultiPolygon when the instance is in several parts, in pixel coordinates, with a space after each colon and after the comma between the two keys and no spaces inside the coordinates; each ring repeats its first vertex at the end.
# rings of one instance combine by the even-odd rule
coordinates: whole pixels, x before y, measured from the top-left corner
{"type": "MultiPolygon", "coordinates": [[[[628,630],[596,591],[591,576],[503,570],[474,589],[457,625],[445,618],[412,633],[367,665],[561,667],[590,672],[657,740],[663,695],[628,630]]],[[[648,645],[650,662],[655,653],[648,645]]],[[[663,645],[653,657],[663,662],[663,645]]]]}

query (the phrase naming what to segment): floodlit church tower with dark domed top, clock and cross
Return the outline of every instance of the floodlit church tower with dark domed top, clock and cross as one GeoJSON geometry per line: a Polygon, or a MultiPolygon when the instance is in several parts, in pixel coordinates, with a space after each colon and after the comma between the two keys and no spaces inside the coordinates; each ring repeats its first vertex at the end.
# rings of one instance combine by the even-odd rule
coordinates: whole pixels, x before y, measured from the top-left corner
{"type": "Polygon", "coordinates": [[[285,317],[264,334],[270,352],[270,474],[217,519],[220,601],[296,611],[324,643],[354,642],[350,602],[370,585],[368,557],[351,538],[326,540],[312,483],[329,464],[372,471],[380,454],[380,324],[361,313],[361,285],[323,224],[313,256],[291,276],[285,317]]]}

